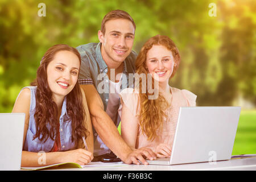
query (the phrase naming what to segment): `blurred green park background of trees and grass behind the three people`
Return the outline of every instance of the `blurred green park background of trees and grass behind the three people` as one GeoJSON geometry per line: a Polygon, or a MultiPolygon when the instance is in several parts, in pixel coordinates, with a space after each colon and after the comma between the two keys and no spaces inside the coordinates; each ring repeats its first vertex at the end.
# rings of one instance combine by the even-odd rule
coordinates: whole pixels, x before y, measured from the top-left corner
{"type": "Polygon", "coordinates": [[[137,53],[151,36],[174,40],[181,64],[171,86],[195,93],[197,106],[242,107],[232,154],[256,154],[254,0],[0,0],[0,113],[11,112],[49,47],[98,42],[102,18],[115,9],[137,24],[137,53]]]}

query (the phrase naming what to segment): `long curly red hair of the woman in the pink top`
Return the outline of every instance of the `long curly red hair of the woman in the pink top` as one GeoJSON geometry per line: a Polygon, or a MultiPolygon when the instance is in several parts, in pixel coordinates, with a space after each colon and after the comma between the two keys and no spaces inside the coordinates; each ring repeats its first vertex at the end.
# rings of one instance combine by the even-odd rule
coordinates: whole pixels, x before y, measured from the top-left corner
{"type": "MultiPolygon", "coordinates": [[[[168,36],[164,35],[153,36],[143,45],[135,62],[136,73],[139,75],[141,73],[144,73],[145,75],[148,74],[146,57],[148,50],[150,50],[153,45],[164,46],[172,52],[174,63],[176,65],[171,75],[171,77],[173,77],[180,63],[180,54],[174,42],[168,38],[168,36]]],[[[146,93],[142,92],[143,84],[146,84],[146,88],[148,88],[148,81],[142,82],[142,78],[139,79],[139,101],[141,103],[139,124],[141,125],[142,133],[146,134],[148,140],[154,140],[154,138],[157,137],[156,131],[162,130],[163,118],[167,117],[164,110],[168,107],[168,104],[164,97],[160,94],[156,99],[148,99],[155,93],[149,93],[149,90],[146,90],[146,93]]],[[[146,77],[146,79],[148,78],[146,77]]],[[[152,79],[152,89],[154,89],[154,85],[155,81],[152,79]]]]}

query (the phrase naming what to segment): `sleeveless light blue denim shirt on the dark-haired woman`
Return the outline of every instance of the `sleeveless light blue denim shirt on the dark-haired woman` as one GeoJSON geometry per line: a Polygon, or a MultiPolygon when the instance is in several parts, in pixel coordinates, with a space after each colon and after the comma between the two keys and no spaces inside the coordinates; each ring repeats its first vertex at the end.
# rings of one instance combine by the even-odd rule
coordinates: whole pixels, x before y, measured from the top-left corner
{"type": "MultiPolygon", "coordinates": [[[[31,97],[30,97],[30,120],[28,124],[27,129],[27,135],[26,139],[24,141],[23,150],[24,151],[30,151],[30,152],[49,152],[51,151],[53,144],[55,142],[56,135],[54,136],[54,140],[52,140],[50,137],[44,142],[45,139],[41,142],[38,138],[34,138],[34,135],[36,134],[36,123],[35,123],[35,106],[36,106],[36,86],[27,86],[24,88],[29,88],[31,97]]],[[[60,144],[61,144],[61,150],[60,151],[67,151],[72,150],[75,148],[75,142],[71,141],[72,137],[72,126],[71,126],[71,120],[68,117],[67,110],[66,110],[66,97],[64,98],[62,109],[61,109],[61,115],[60,115],[60,144]]],[[[49,123],[47,124],[47,129],[50,129],[49,123]]],[[[40,135],[40,138],[42,135],[40,135]]]]}

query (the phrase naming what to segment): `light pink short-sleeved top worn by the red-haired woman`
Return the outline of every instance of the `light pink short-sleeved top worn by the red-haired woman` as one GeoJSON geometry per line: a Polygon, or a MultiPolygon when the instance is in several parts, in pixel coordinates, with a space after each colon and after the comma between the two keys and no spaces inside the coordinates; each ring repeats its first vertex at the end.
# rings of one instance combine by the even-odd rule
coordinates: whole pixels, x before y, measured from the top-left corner
{"type": "MultiPolygon", "coordinates": [[[[139,125],[138,115],[140,112],[140,104],[139,104],[139,94],[133,88],[123,89],[119,94],[121,105],[118,109],[118,113],[121,117],[122,114],[122,105],[126,105],[127,108],[130,109],[131,113],[138,119],[138,135],[136,141],[136,148],[147,147],[151,148],[152,151],[155,151],[155,147],[157,147],[160,143],[166,143],[171,146],[174,143],[174,135],[177,125],[177,118],[179,115],[180,107],[187,106],[196,106],[196,95],[188,90],[180,90],[177,88],[172,88],[172,102],[171,106],[166,109],[166,115],[169,116],[167,119],[164,119],[163,130],[156,131],[156,137],[153,141],[147,140],[147,136],[142,134],[141,126],[139,125]]],[[[128,119],[128,118],[127,118],[128,119]]]]}

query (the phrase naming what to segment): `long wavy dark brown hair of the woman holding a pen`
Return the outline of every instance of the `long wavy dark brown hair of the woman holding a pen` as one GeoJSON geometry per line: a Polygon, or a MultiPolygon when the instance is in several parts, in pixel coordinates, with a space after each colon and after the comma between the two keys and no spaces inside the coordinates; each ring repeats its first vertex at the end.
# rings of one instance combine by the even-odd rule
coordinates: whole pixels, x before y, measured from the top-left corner
{"type": "MultiPolygon", "coordinates": [[[[41,142],[46,142],[48,138],[54,140],[54,136],[58,130],[59,118],[57,118],[58,110],[56,103],[52,100],[52,91],[47,82],[47,66],[53,60],[56,53],[59,51],[70,51],[79,57],[81,65],[80,53],[77,49],[66,44],[57,44],[49,48],[44,54],[38,71],[36,72],[36,80],[32,82],[32,86],[37,86],[36,89],[36,106],[35,106],[35,122],[36,134],[34,139],[38,138],[41,142]],[[47,126],[50,126],[49,130],[47,126]]],[[[72,126],[72,142],[78,146],[82,137],[86,138],[86,133],[89,131],[84,126],[86,118],[85,110],[82,105],[82,93],[79,83],[76,82],[74,88],[67,94],[67,114],[71,119],[72,126]]]]}

